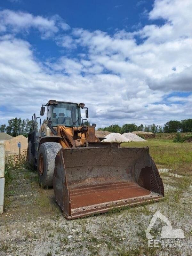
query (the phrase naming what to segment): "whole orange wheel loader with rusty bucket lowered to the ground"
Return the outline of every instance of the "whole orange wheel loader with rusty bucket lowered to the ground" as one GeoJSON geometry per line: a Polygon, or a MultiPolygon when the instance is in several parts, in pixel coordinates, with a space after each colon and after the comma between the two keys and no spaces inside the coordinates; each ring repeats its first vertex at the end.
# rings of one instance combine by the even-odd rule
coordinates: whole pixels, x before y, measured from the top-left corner
{"type": "Polygon", "coordinates": [[[28,134],[28,163],[37,167],[39,182],[54,189],[56,202],[67,219],[75,219],[125,205],[157,201],[164,186],[149,148],[121,148],[101,142],[96,124],[84,103],[49,100],[43,116],[32,117],[28,134]],[[37,123],[40,129],[37,132],[37,123]]]}

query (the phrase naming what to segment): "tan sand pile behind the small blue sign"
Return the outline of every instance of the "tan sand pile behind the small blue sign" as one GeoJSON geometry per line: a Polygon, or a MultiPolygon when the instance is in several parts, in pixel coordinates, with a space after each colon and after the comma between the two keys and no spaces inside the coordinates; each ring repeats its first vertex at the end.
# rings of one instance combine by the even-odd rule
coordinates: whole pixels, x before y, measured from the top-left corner
{"type": "Polygon", "coordinates": [[[14,152],[16,154],[19,153],[19,148],[17,147],[17,143],[21,143],[21,152],[27,149],[28,146],[28,139],[23,135],[18,135],[15,138],[11,139],[10,141],[5,141],[5,151],[14,152]]]}

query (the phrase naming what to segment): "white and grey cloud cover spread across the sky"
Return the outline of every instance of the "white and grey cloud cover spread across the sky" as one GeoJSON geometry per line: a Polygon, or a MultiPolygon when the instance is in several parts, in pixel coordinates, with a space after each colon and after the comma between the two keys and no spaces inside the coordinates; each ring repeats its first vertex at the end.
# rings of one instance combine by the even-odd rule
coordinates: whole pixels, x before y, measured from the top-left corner
{"type": "Polygon", "coordinates": [[[189,118],[191,96],[169,97],[172,92],[192,91],[191,1],[184,2],[180,12],[181,1],[155,1],[148,13],[153,24],[113,35],[70,29],[58,15],[40,18],[1,11],[1,105],[8,104],[17,113],[14,116],[24,118],[38,113],[50,98],[85,102],[90,122],[99,126],[189,118]],[[163,19],[163,24],[156,25],[156,19],[163,19]],[[16,31],[31,27],[43,36],[58,33],[52,40],[60,49],[70,50],[67,56],[37,61],[33,46],[14,37],[16,31]],[[73,54],[77,48],[78,54],[73,54]]]}

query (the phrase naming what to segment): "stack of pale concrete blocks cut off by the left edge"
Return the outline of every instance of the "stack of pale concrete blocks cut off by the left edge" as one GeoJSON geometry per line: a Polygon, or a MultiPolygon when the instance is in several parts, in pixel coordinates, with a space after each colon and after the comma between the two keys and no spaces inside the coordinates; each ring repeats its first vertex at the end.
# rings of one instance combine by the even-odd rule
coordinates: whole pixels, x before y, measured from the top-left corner
{"type": "Polygon", "coordinates": [[[5,188],[5,144],[0,143],[0,214],[3,213],[5,188]]]}

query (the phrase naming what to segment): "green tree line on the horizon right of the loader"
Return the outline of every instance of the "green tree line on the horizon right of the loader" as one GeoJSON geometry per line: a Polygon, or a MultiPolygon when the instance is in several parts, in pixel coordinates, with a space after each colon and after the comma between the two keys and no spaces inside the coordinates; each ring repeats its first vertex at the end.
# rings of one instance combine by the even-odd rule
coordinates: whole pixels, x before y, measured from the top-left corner
{"type": "Polygon", "coordinates": [[[181,121],[171,120],[161,125],[143,124],[137,126],[136,124],[124,124],[119,126],[118,124],[112,124],[104,128],[98,128],[98,131],[108,131],[108,132],[119,132],[121,134],[125,132],[134,132],[134,131],[144,131],[144,132],[153,132],[153,133],[170,133],[170,132],[192,132],[192,119],[185,119],[181,121]]]}

